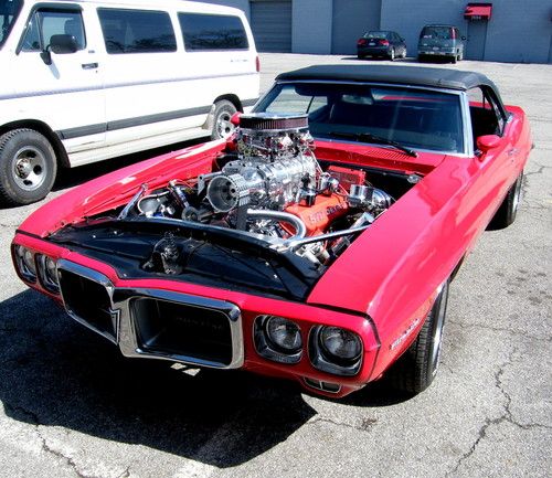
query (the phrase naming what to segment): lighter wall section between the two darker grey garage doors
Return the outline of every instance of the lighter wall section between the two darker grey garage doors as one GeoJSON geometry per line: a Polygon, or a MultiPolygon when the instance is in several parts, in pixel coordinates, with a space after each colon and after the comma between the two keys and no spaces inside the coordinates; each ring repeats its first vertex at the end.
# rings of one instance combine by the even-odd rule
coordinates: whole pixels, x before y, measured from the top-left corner
{"type": "Polygon", "coordinates": [[[319,53],[331,51],[333,0],[294,0],[291,51],[319,53]]]}

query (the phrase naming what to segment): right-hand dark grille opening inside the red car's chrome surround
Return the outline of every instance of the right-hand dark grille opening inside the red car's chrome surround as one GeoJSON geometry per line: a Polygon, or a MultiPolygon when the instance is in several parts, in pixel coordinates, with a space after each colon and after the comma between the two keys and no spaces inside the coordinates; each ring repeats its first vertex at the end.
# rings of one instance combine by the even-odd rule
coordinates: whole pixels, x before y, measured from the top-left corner
{"type": "Polygon", "coordinates": [[[219,367],[232,363],[231,319],[222,310],[134,298],[130,316],[142,352],[219,367]]]}

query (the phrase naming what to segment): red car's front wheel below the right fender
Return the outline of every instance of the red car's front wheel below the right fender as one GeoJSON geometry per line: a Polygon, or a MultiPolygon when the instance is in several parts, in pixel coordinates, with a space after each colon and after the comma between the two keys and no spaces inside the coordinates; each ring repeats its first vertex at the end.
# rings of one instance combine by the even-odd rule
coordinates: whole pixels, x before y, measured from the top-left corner
{"type": "Polygon", "coordinates": [[[437,374],[448,302],[448,283],[449,280],[446,280],[440,287],[416,340],[389,371],[393,386],[402,392],[423,392],[437,374]]]}

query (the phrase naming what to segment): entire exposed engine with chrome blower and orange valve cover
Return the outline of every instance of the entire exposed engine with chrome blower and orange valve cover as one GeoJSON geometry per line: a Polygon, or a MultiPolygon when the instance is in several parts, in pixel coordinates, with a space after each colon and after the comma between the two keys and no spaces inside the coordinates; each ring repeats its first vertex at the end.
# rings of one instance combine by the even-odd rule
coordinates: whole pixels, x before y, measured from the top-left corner
{"type": "MultiPolygon", "coordinates": [[[[152,191],[144,184],[118,219],[225,227],[323,265],[393,202],[362,169],[322,170],[305,115],[242,115],[233,145],[213,172],[152,191]]],[[[145,268],[179,274],[178,255],[174,238],[163,237],[145,268]]]]}

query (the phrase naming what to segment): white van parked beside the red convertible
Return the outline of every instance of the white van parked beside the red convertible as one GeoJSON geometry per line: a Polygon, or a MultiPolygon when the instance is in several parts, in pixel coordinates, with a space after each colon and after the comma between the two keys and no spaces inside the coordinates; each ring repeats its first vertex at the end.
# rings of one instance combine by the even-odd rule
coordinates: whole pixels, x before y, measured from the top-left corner
{"type": "Polygon", "coordinates": [[[241,10],[181,0],[0,0],[0,202],[59,167],[211,136],[258,97],[241,10]]]}

